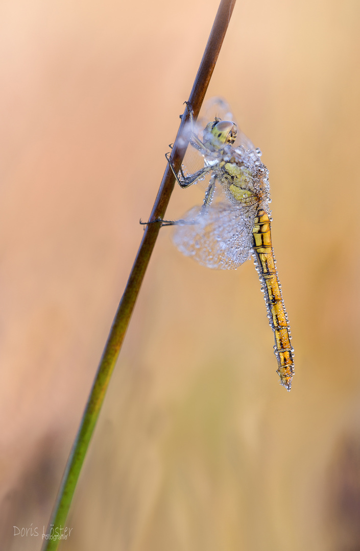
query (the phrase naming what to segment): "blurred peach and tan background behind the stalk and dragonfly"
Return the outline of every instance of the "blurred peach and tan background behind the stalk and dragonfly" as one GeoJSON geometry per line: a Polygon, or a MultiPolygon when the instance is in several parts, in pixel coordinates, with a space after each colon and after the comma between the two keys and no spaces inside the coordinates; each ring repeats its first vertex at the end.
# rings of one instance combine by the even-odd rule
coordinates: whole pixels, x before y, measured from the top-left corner
{"type": "MultiPolygon", "coordinates": [[[[49,520],[217,7],[1,3],[1,549],[41,547],[13,526],[49,520]]],[[[360,549],[359,15],[238,0],[207,94],[270,170],[291,393],[252,262],[164,228],[61,549],[360,549]]]]}

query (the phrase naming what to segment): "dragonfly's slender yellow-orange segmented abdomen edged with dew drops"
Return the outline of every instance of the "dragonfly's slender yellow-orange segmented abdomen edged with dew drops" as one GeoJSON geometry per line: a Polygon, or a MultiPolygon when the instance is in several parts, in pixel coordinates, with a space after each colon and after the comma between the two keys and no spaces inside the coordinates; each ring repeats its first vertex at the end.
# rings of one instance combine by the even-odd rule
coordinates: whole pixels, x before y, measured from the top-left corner
{"type": "Polygon", "coordinates": [[[275,337],[274,349],[278,363],[277,373],[280,376],[281,385],[289,391],[294,375],[294,349],[290,342],[289,321],[275,268],[270,219],[263,209],[260,209],[255,217],[254,229],[252,230],[252,248],[262,291],[265,295],[267,317],[275,337]]]}

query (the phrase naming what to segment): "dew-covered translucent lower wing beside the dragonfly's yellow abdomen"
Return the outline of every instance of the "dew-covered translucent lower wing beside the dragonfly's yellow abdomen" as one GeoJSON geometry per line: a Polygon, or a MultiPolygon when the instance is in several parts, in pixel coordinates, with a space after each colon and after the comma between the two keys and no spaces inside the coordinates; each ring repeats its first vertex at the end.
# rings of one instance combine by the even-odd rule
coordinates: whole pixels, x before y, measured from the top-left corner
{"type": "Polygon", "coordinates": [[[205,212],[194,207],[183,225],[176,225],[173,241],[179,251],[202,266],[235,269],[248,259],[257,203],[213,203],[205,212]]]}

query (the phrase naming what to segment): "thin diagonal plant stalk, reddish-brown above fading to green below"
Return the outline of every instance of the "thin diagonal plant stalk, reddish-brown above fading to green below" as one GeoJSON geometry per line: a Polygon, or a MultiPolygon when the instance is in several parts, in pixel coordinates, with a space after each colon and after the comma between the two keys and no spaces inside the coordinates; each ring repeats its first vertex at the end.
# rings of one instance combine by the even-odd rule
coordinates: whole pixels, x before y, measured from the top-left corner
{"type": "MultiPolygon", "coordinates": [[[[221,0],[219,5],[205,52],[188,100],[194,110],[195,120],[199,114],[211,75],[221,50],[224,36],[233,12],[234,4],[235,0],[221,0]]],[[[179,137],[182,136],[184,125],[187,120],[189,120],[189,114],[187,109],[185,109],[184,116],[181,118],[178,135],[176,136],[174,147],[171,152],[171,161],[176,172],[180,169],[182,159],[184,158],[187,148],[187,143],[184,143],[184,138],[179,140],[179,137]]],[[[175,178],[173,172],[171,171],[169,165],[166,165],[164,176],[149,220],[164,218],[165,210],[169,204],[174,185],[175,178]]],[[[98,371],[96,372],[94,384],[90,392],[87,406],[85,407],[78,434],[66,464],[56,505],[53,510],[49,526],[47,527],[47,534],[56,534],[56,528],[60,531],[60,528],[65,526],[85,453],[88,449],[96,420],[99,417],[100,408],[104,401],[110,376],[114,370],[117,356],[119,356],[122,341],[135,306],[137,295],[153,251],[160,226],[160,223],[154,223],[147,225],[145,228],[141,245],[117,309],[114,322],[112,323],[98,371]]],[[[53,551],[57,549],[59,541],[59,539],[45,540],[42,550],[53,551]]]]}

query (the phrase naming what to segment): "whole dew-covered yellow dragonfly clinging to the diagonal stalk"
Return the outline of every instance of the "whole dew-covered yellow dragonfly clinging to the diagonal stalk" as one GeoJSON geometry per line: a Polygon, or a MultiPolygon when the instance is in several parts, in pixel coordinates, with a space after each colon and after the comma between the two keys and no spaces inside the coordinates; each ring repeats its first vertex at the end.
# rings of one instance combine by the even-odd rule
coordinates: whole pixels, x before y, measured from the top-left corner
{"type": "Polygon", "coordinates": [[[260,159],[260,149],[238,129],[224,100],[211,101],[209,109],[217,115],[209,122],[207,118],[202,132],[194,122],[191,105],[187,104],[187,109],[190,122],[186,132],[202,166],[189,174],[182,165],[177,174],[169,154],[166,158],[182,188],[206,177],[208,186],[202,206],[191,208],[181,220],[161,222],[175,225],[176,247],[202,266],[236,269],[254,257],[275,338],[277,373],[280,384],[290,391],[294,349],[272,248],[268,170],[260,159]]]}

